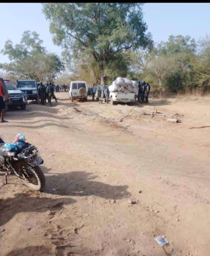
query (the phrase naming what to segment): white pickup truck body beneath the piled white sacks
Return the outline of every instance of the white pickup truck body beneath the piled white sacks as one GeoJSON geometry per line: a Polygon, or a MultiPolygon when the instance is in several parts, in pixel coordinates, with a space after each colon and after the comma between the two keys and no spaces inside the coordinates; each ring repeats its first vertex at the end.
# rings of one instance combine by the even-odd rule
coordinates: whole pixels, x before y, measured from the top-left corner
{"type": "Polygon", "coordinates": [[[136,102],[136,94],[130,92],[110,92],[109,99],[111,105],[115,105],[117,102],[136,102]]]}

